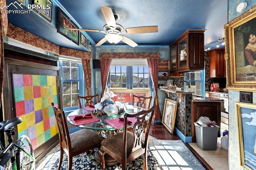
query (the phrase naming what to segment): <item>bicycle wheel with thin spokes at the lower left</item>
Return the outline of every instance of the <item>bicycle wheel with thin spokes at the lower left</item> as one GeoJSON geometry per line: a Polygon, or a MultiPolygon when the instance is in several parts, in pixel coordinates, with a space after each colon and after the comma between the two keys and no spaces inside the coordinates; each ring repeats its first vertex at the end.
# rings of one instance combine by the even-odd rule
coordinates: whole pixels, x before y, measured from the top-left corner
{"type": "Polygon", "coordinates": [[[30,139],[26,135],[20,136],[18,140],[18,146],[26,151],[22,152],[22,150],[18,149],[16,153],[16,163],[17,167],[20,167],[20,170],[34,170],[35,169],[35,159],[34,161],[28,156],[34,157],[34,151],[30,142],[30,139]]]}

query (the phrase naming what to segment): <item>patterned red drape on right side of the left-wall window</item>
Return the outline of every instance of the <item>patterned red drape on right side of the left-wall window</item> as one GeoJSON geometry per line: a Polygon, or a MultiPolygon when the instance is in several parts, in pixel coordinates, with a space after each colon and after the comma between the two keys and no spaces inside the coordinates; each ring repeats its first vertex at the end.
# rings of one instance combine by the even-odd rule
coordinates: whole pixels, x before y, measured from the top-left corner
{"type": "Polygon", "coordinates": [[[84,81],[87,88],[87,95],[92,95],[91,83],[92,83],[92,69],[91,61],[89,59],[82,58],[82,65],[84,70],[84,81]]]}

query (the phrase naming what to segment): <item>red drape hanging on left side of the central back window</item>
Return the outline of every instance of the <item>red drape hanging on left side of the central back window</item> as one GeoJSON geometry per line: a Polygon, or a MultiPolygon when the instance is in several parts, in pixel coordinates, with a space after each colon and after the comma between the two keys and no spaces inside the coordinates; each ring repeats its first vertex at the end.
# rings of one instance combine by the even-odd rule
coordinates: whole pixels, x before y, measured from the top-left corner
{"type": "Polygon", "coordinates": [[[112,59],[100,59],[100,76],[101,76],[101,85],[102,85],[102,92],[101,92],[100,98],[103,97],[105,87],[107,85],[111,60],[112,59]]]}

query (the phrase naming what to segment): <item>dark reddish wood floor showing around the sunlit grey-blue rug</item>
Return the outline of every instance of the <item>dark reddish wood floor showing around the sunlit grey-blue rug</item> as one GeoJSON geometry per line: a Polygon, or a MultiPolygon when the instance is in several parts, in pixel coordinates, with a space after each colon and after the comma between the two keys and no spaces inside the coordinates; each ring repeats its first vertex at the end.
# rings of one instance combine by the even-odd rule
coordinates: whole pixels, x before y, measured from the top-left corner
{"type": "MultiPolygon", "coordinates": [[[[150,135],[154,136],[157,139],[161,140],[180,140],[181,138],[177,134],[171,134],[162,123],[154,123],[151,127],[150,135]]],[[[198,161],[206,168],[207,170],[213,170],[209,164],[188,144],[185,143],[190,151],[196,156],[198,161]]]]}

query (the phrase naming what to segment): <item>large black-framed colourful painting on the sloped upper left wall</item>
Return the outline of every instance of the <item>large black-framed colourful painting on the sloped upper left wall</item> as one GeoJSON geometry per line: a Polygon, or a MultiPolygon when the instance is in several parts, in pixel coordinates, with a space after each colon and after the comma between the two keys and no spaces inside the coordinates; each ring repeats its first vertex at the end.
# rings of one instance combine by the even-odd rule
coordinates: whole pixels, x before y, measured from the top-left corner
{"type": "Polygon", "coordinates": [[[66,30],[65,28],[78,28],[78,26],[58,7],[57,32],[79,45],[79,31],[66,30]]]}

